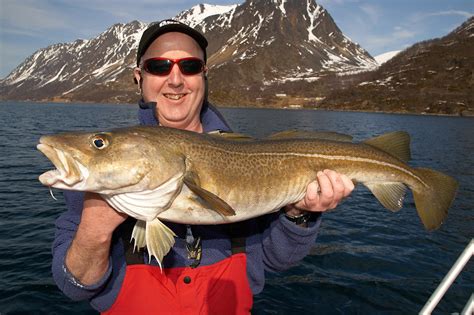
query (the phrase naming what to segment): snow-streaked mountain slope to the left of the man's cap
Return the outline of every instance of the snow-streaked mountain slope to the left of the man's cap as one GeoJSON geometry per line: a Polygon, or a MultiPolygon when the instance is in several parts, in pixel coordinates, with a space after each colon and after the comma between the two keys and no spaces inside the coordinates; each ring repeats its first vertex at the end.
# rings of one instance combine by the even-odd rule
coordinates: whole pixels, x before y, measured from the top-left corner
{"type": "MultiPolygon", "coordinates": [[[[114,93],[131,67],[146,24],[116,24],[90,40],[40,49],[0,81],[4,99],[126,101],[114,93]],[[104,94],[105,93],[105,94],[104,94]]],[[[131,84],[124,84],[131,85],[131,84]]]]}

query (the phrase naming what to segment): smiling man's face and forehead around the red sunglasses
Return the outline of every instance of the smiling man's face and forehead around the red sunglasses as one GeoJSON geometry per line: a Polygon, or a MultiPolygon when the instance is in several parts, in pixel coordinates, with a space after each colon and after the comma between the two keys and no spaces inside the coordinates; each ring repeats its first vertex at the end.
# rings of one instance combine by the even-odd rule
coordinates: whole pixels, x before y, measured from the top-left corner
{"type": "MultiPolygon", "coordinates": [[[[190,36],[170,32],[155,39],[141,58],[141,63],[154,57],[203,59],[204,54],[190,36]]],[[[201,125],[199,114],[205,94],[204,72],[184,75],[175,64],[170,74],[165,76],[153,75],[137,68],[135,77],[137,80],[141,77],[143,100],[157,103],[157,116],[161,125],[180,129],[195,129],[201,125]]]]}

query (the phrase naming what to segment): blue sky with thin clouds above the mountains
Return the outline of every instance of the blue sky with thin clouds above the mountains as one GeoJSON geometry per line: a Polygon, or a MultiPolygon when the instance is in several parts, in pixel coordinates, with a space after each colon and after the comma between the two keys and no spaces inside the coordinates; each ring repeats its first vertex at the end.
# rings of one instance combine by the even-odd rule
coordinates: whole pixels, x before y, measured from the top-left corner
{"type": "MultiPolygon", "coordinates": [[[[292,0],[287,0],[292,1],[292,0]]],[[[243,0],[0,0],[0,78],[40,48],[89,39],[115,23],[173,17],[199,3],[243,0]]],[[[317,0],[372,56],[441,37],[474,14],[474,0],[317,0]]]]}

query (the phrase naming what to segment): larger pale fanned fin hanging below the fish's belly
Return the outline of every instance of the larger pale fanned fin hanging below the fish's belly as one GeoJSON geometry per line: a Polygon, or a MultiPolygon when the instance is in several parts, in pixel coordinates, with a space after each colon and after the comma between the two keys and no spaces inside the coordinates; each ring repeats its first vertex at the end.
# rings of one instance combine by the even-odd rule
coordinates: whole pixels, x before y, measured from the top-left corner
{"type": "Polygon", "coordinates": [[[175,236],[174,232],[158,219],[146,222],[145,239],[149,259],[154,256],[160,268],[163,257],[174,245],[175,236]]]}

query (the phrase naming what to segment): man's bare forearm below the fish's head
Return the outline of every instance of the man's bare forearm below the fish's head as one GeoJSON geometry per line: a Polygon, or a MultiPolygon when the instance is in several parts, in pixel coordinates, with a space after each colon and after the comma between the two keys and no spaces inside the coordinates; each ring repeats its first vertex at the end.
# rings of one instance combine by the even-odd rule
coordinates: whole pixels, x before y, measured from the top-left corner
{"type": "Polygon", "coordinates": [[[81,223],[66,255],[66,267],[82,284],[99,281],[109,266],[113,231],[127,215],[111,208],[99,195],[86,193],[81,223]]]}

